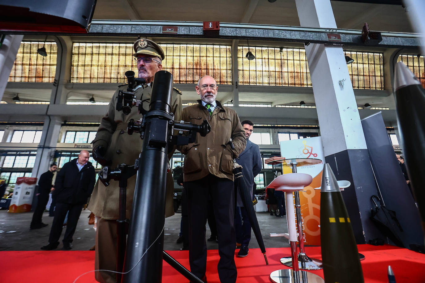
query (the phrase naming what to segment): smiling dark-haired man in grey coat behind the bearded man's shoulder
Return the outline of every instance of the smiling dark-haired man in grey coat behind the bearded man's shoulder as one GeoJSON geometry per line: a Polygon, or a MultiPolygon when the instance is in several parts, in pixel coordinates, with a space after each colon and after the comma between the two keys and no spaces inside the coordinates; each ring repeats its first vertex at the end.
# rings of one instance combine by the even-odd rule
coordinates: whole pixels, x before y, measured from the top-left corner
{"type": "MultiPolygon", "coordinates": [[[[249,140],[251,136],[254,123],[249,120],[241,122],[242,127],[245,131],[246,137],[246,147],[238,156],[238,164],[242,165],[242,174],[244,175],[244,180],[246,187],[251,189],[250,195],[252,195],[252,188],[254,186],[254,177],[260,173],[263,168],[263,163],[261,162],[260,148],[255,143],[252,143],[249,140]]],[[[244,205],[242,204],[242,199],[237,191],[237,200],[236,200],[236,210],[235,210],[235,230],[236,230],[236,242],[241,244],[241,249],[238,252],[238,257],[244,257],[248,255],[248,244],[251,240],[251,223],[249,223],[248,213],[244,205]]],[[[251,203],[249,204],[251,205],[251,203]]]]}

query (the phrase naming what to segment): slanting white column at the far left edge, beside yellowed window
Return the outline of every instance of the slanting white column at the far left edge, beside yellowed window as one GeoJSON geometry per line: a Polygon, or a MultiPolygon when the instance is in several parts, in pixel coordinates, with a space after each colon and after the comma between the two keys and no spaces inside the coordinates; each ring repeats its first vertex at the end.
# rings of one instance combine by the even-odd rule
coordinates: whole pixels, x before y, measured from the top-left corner
{"type": "Polygon", "coordinates": [[[0,46],[0,100],[3,98],[10,71],[16,60],[16,54],[18,53],[22,39],[23,35],[6,34],[0,46]]]}

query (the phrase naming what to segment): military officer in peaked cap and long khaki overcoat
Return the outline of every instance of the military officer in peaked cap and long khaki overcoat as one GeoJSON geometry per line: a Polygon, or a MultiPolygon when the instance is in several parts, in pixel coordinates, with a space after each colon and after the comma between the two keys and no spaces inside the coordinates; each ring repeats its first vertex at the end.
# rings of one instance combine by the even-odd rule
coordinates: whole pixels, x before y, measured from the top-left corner
{"type": "MultiPolygon", "coordinates": [[[[155,73],[162,69],[164,51],[161,47],[149,39],[139,39],[134,45],[134,54],[137,62],[138,76],[144,78],[146,84],[136,90],[136,99],[143,102],[143,108],[149,109],[150,96],[152,92],[152,81],[155,73]]],[[[138,134],[128,135],[127,124],[130,119],[139,120],[137,108],[133,107],[130,114],[125,115],[122,111],[115,110],[119,90],[127,90],[127,85],[119,86],[109,103],[108,112],[97,130],[93,140],[93,157],[102,165],[110,165],[115,168],[118,164],[134,164],[142,150],[142,140],[138,134]]],[[[181,92],[173,89],[171,112],[175,120],[181,117],[181,92]]],[[[173,153],[169,154],[171,158],[173,153]]],[[[126,217],[130,218],[133,204],[134,187],[136,175],[128,179],[127,185],[127,207],[126,217]]],[[[173,210],[173,177],[171,172],[167,173],[165,216],[172,216],[173,210]]],[[[96,230],[96,257],[95,269],[116,270],[116,219],[118,219],[119,208],[119,183],[111,182],[105,187],[99,180],[96,182],[93,194],[88,205],[97,217],[96,230]]],[[[99,282],[115,283],[116,273],[95,272],[96,280],[99,282]]]]}

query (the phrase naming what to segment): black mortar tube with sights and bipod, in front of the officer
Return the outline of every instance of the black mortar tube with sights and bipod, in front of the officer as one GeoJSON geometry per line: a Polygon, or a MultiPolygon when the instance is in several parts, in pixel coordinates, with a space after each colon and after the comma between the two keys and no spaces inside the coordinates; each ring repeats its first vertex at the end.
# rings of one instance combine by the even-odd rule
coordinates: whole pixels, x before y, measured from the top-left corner
{"type": "MultiPolygon", "coordinates": [[[[126,73],[129,85],[131,75],[128,72],[126,73]]],[[[129,166],[121,164],[119,168],[113,171],[113,173],[119,171],[121,174],[121,177],[116,177],[120,178],[120,216],[118,221],[120,231],[117,270],[125,272],[119,276],[121,281],[118,280],[119,277],[117,276],[117,282],[159,283],[162,278],[162,260],[164,259],[187,279],[202,283],[199,278],[195,277],[163,250],[165,187],[169,146],[171,144],[193,143],[197,132],[205,136],[210,132],[211,127],[207,120],[204,120],[201,125],[174,121],[174,115],[170,112],[173,76],[167,71],[159,71],[155,74],[154,81],[149,112],[143,109],[141,101],[136,100],[132,95],[135,89],[130,89],[130,87],[127,90],[128,93],[119,93],[120,103],[119,105],[117,103],[117,110],[122,110],[125,114],[130,113],[132,106],[135,105],[138,106],[139,113],[143,114],[142,119],[139,121],[131,120],[127,127],[128,134],[139,132],[143,140],[142,152],[138,162],[132,170],[129,170],[129,166]],[[180,135],[173,135],[175,129],[180,131],[180,135]],[[183,131],[190,132],[190,134],[181,135],[183,131]],[[123,234],[127,223],[125,219],[125,190],[127,179],[135,174],[136,169],[138,171],[133,196],[133,209],[128,238],[125,242],[125,232],[123,234]],[[125,181],[121,179],[125,179],[125,181]],[[122,265],[123,258],[124,264],[122,265]]],[[[106,175],[102,178],[108,179],[108,168],[104,169],[103,172],[106,172],[106,175]]]]}

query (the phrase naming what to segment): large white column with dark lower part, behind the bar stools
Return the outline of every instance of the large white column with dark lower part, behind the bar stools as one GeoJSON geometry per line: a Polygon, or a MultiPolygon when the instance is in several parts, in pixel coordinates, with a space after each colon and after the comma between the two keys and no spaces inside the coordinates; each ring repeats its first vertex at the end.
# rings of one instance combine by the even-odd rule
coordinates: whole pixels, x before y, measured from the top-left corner
{"type": "MultiPolygon", "coordinates": [[[[336,29],[330,0],[295,0],[302,27],[336,29]]],[[[381,237],[371,220],[370,197],[377,193],[363,127],[342,46],[305,47],[317,107],[325,162],[338,180],[353,184],[343,194],[357,244],[381,237]]]]}

